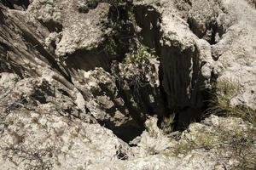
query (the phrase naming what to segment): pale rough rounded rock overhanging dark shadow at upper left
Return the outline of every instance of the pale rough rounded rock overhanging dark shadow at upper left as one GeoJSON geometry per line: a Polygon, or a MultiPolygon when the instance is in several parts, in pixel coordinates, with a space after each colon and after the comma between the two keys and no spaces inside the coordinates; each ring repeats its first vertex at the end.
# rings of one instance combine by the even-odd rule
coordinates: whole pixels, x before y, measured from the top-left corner
{"type": "Polygon", "coordinates": [[[110,31],[103,28],[103,22],[108,22],[107,3],[99,3],[96,10],[91,9],[85,14],[79,11],[80,3],[79,0],[35,0],[27,10],[32,17],[48,27],[51,26],[50,29],[61,31],[61,41],[56,43],[55,49],[58,57],[73,54],[79,49],[96,48],[102,42],[103,36],[110,31]],[[61,30],[54,26],[61,26],[61,30]]]}

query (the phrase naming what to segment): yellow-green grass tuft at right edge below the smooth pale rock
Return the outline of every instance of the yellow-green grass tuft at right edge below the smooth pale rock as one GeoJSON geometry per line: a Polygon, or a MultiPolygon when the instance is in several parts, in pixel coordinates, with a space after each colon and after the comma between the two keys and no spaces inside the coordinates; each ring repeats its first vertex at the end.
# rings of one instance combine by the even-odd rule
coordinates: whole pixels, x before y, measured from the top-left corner
{"type": "Polygon", "coordinates": [[[241,117],[244,121],[256,124],[256,111],[246,105],[231,105],[231,99],[240,93],[238,82],[222,79],[216,82],[213,88],[215,93],[207,114],[241,117]]]}

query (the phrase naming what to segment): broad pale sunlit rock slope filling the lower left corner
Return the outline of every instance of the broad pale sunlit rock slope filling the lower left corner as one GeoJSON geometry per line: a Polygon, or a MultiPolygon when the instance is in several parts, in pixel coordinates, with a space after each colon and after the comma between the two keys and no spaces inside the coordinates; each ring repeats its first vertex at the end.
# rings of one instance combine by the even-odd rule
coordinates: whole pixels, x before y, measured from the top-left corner
{"type": "MultiPolygon", "coordinates": [[[[1,169],[76,169],[131,156],[57,82],[1,73],[1,169]],[[7,81],[9,79],[9,81],[7,81]],[[5,106],[3,106],[5,105],[5,106]]],[[[78,96],[79,94],[77,94],[78,96]]]]}

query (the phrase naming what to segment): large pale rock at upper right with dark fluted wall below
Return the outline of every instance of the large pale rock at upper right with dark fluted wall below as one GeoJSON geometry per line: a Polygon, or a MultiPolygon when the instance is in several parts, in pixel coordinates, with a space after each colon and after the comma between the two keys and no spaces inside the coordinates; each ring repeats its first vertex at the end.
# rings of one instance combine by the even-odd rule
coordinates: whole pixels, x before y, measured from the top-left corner
{"type": "MultiPolygon", "coordinates": [[[[183,117],[189,117],[192,112],[195,119],[200,119],[212,82],[223,78],[243,87],[240,94],[232,99],[232,105],[255,106],[255,49],[246,45],[255,43],[255,34],[251,31],[255,23],[251,18],[254,8],[245,1],[136,3],[150,4],[160,14],[159,31],[153,20],[148,18],[147,21],[154,30],[150,34],[154,36],[150,37],[159,43],[154,47],[160,55],[160,85],[166,97],[166,111],[176,112],[181,122],[189,123],[191,120],[183,117]],[[250,9],[242,14],[242,8],[250,9]],[[248,23],[251,23],[250,26],[247,26],[248,23]],[[249,88],[252,90],[249,91],[249,88]]],[[[146,14],[150,16],[150,12],[146,14]]],[[[145,15],[145,19],[147,17],[145,15]]]]}

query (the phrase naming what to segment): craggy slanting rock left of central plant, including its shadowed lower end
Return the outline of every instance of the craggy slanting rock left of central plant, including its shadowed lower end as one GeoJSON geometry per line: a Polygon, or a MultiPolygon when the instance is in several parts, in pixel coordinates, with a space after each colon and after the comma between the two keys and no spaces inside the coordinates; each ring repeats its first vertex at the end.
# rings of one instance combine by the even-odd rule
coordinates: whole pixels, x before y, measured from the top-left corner
{"type": "Polygon", "coordinates": [[[138,133],[133,132],[137,136],[142,131],[141,127],[125,104],[125,99],[120,95],[115,77],[102,68],[79,73],[82,81],[75,82],[75,85],[80,91],[88,92],[85,105],[90,114],[102,125],[113,129],[121,139],[129,141],[130,135],[125,136],[123,133],[129,134],[131,129],[138,131],[138,133]]]}

